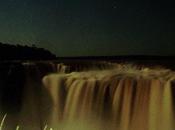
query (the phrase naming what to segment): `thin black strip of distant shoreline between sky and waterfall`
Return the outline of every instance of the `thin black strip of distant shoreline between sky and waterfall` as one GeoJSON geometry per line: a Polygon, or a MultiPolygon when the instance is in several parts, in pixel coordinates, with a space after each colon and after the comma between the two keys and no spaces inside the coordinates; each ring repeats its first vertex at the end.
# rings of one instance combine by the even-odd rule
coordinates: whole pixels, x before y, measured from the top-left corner
{"type": "Polygon", "coordinates": [[[81,57],[56,57],[50,59],[16,59],[16,60],[0,60],[0,63],[63,63],[66,65],[89,64],[95,62],[114,62],[121,64],[137,64],[141,66],[162,66],[175,70],[175,56],[81,56],[81,57]]]}

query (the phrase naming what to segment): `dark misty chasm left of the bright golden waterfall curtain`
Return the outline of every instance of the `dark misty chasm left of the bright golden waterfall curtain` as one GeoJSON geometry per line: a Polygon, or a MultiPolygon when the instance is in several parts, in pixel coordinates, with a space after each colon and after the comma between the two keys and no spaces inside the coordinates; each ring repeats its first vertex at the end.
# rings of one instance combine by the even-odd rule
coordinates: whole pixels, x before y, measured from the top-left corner
{"type": "Polygon", "coordinates": [[[51,102],[41,79],[53,72],[50,62],[0,63],[0,120],[7,114],[3,130],[15,129],[18,124],[25,130],[41,129],[51,102]]]}

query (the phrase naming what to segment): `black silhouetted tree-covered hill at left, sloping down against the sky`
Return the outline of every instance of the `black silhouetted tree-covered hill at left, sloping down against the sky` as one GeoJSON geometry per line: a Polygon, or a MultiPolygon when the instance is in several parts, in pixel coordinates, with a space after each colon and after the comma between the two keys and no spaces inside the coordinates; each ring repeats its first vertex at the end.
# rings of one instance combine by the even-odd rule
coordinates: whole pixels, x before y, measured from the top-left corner
{"type": "Polygon", "coordinates": [[[56,56],[36,46],[11,45],[0,42],[0,60],[50,60],[56,56]]]}

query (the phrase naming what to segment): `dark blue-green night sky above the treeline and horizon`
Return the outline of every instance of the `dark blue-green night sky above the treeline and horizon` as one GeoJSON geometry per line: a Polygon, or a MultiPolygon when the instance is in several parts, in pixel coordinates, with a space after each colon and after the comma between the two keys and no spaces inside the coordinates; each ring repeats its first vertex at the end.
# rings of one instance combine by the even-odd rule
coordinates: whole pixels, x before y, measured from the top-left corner
{"type": "Polygon", "coordinates": [[[175,55],[175,7],[169,0],[1,0],[0,41],[57,56],[175,55]]]}

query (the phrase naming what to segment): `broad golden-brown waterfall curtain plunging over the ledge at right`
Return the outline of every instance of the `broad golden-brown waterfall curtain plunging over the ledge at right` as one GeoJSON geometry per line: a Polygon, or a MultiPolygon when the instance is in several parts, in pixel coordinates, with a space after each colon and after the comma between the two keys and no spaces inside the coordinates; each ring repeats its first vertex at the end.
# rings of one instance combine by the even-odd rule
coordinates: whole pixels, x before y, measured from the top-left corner
{"type": "Polygon", "coordinates": [[[45,76],[53,102],[50,125],[93,121],[95,130],[174,130],[173,80],[174,73],[163,69],[45,76]]]}

